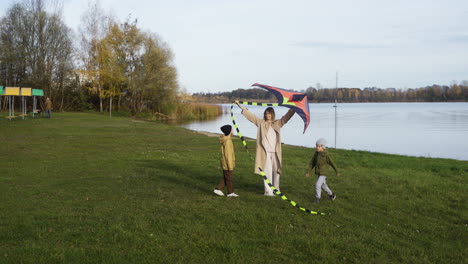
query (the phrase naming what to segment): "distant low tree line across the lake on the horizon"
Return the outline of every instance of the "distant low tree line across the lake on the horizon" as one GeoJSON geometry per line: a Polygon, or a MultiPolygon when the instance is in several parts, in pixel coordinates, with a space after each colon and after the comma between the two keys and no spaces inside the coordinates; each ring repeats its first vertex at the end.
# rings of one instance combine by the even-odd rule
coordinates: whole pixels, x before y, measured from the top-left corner
{"type": "MultiPolygon", "coordinates": [[[[468,102],[468,81],[460,84],[432,85],[416,89],[381,89],[370,88],[315,88],[308,87],[300,90],[307,94],[310,102],[468,102]]],[[[193,97],[198,101],[211,103],[229,103],[233,100],[274,101],[270,92],[259,89],[236,89],[232,92],[195,93],[193,97]]]]}

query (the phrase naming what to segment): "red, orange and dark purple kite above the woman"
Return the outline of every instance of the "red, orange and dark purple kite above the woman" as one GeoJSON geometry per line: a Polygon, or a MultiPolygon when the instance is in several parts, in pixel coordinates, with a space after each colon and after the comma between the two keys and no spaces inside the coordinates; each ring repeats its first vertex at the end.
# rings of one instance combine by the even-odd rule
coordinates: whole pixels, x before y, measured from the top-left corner
{"type": "Polygon", "coordinates": [[[276,96],[278,99],[278,105],[293,109],[302,118],[302,120],[304,120],[303,133],[305,133],[310,123],[309,102],[307,102],[307,95],[259,83],[254,83],[252,86],[267,89],[276,96]]]}

